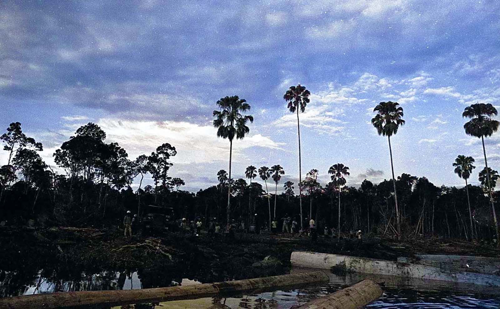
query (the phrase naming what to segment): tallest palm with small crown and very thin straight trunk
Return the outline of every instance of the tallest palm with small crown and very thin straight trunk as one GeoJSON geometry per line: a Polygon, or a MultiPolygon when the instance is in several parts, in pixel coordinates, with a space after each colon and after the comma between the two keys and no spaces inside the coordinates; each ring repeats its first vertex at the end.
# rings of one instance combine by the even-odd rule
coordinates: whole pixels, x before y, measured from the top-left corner
{"type": "Polygon", "coordinates": [[[301,112],[304,112],[305,105],[309,102],[309,90],[305,89],[304,86],[298,84],[297,86],[291,86],[288,90],[286,90],[283,98],[288,102],[287,108],[290,112],[297,112],[297,132],[298,132],[298,201],[300,204],[300,227],[302,230],[304,229],[304,220],[302,219],[302,170],[300,163],[300,125],[298,121],[298,109],[300,108],[301,112]]]}

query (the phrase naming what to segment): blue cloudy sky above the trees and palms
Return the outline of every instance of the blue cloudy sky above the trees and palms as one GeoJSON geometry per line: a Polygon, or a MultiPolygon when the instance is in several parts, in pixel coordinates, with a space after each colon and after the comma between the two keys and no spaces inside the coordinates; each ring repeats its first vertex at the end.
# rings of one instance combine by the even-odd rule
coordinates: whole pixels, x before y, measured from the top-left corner
{"type": "MultiPolygon", "coordinates": [[[[464,133],[461,113],[500,107],[499,33],[494,0],[3,0],[0,128],[21,122],[52,167],[55,149],[87,122],[131,159],[168,142],[170,176],[197,191],[228,170],[212,111],[238,95],[254,121],[233,143],[232,175],[280,164],[279,190],[298,179],[296,114],[283,94],[300,83],[311,92],[299,115],[303,175],[316,168],[324,184],[340,162],[348,185],[390,179],[387,139],[370,119],[391,100],[406,121],[391,138],[396,175],[461,186],[451,163],[465,154],[477,184],[480,139],[464,133]]],[[[486,152],[499,169],[500,133],[486,152]]]]}

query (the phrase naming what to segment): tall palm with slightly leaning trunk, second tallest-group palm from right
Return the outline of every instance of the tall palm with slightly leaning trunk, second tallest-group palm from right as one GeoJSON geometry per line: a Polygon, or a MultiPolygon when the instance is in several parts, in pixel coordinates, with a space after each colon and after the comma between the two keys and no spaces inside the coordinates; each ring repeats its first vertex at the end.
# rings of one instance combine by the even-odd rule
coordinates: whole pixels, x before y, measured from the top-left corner
{"type": "Polygon", "coordinates": [[[396,207],[397,237],[401,235],[401,218],[397,207],[396,179],[394,177],[394,165],[392,164],[392,148],[390,147],[390,136],[397,133],[400,125],[404,125],[403,108],[396,102],[380,102],[373,109],[377,114],[371,119],[371,124],[376,127],[378,135],[387,136],[389,141],[390,168],[392,170],[392,184],[394,186],[394,203],[396,207]]]}

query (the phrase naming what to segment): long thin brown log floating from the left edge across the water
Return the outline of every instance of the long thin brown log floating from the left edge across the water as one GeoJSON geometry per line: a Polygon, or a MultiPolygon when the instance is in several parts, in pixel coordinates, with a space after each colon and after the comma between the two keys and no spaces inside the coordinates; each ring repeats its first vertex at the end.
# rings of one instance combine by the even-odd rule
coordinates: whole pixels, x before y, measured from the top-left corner
{"type": "Polygon", "coordinates": [[[90,304],[122,305],[179,299],[211,297],[240,291],[277,289],[294,285],[327,283],[323,271],[307,274],[285,274],[264,278],[204,283],[186,286],[170,286],[133,290],[77,291],[23,295],[0,298],[0,309],[17,308],[64,308],[90,304]]]}

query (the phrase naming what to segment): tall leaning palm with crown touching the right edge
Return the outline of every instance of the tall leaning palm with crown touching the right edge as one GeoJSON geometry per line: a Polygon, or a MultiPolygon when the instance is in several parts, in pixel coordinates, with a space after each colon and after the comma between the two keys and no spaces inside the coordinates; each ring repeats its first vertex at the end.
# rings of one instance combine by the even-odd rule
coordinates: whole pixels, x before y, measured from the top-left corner
{"type": "Polygon", "coordinates": [[[493,203],[493,196],[491,194],[491,182],[488,170],[488,161],[486,159],[486,149],[484,148],[484,136],[491,136],[498,130],[498,121],[491,118],[497,115],[496,108],[491,104],[476,103],[465,107],[462,117],[470,118],[470,120],[463,125],[465,133],[471,136],[480,137],[482,142],[482,152],[484,154],[484,165],[486,167],[486,187],[488,189],[489,201],[491,209],[493,210],[493,221],[495,222],[496,229],[496,245],[500,246],[500,226],[496,219],[495,206],[493,203]]]}

